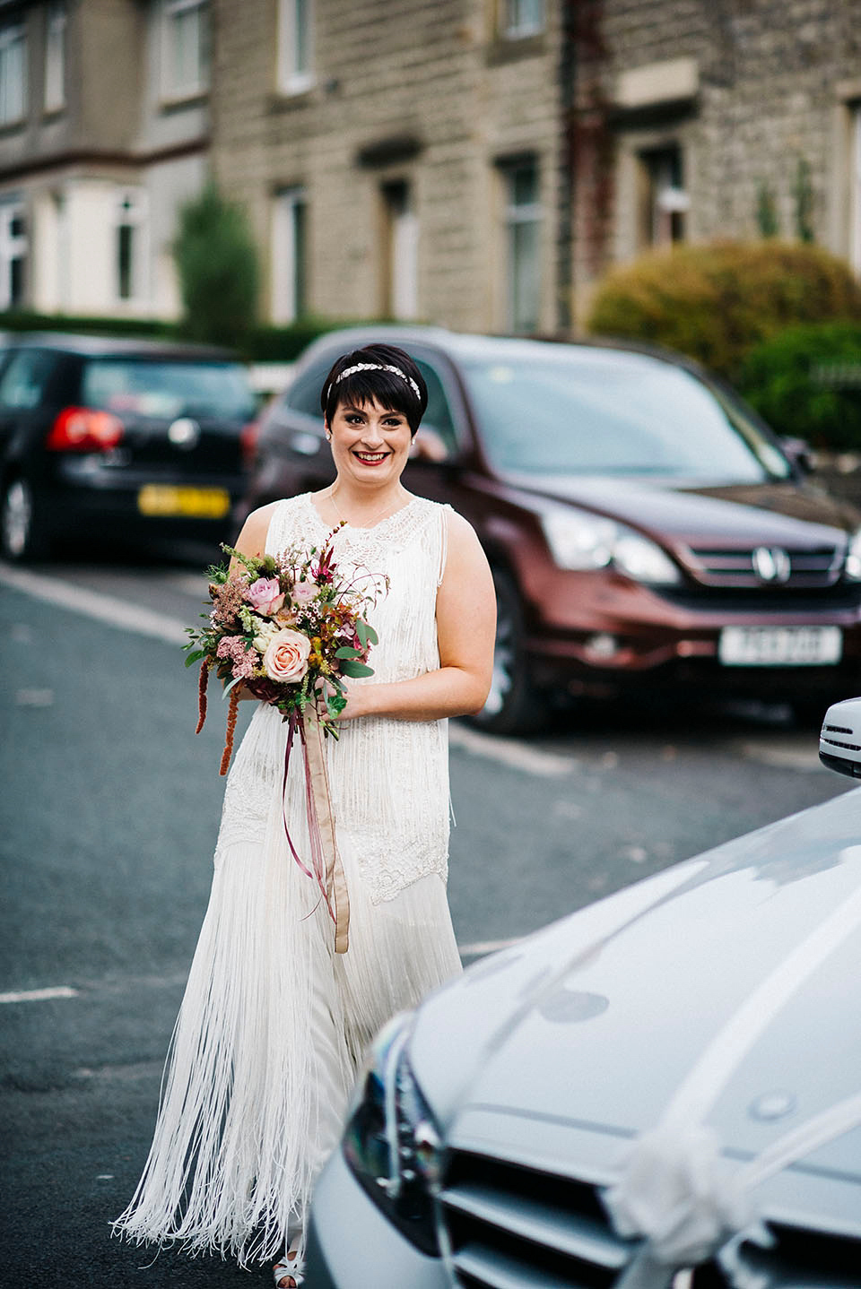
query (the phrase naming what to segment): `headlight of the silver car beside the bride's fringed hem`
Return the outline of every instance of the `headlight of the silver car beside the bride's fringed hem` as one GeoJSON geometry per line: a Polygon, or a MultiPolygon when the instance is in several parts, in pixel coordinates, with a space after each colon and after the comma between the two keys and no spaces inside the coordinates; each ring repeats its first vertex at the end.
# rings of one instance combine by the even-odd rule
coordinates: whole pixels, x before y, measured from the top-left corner
{"type": "Polygon", "coordinates": [[[433,1197],[442,1141],[407,1057],[412,1016],[379,1034],[360,1075],[343,1139],[356,1179],[418,1249],[440,1255],[433,1197]]]}

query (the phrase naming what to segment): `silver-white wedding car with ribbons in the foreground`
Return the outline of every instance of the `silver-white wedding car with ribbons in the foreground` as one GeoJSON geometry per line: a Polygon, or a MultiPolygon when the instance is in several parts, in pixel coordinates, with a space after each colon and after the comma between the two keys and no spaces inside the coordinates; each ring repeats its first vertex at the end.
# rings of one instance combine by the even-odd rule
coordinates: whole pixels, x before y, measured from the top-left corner
{"type": "Polygon", "coordinates": [[[379,1035],[309,1289],[861,1286],[860,981],[861,789],[483,959],[379,1035]]]}

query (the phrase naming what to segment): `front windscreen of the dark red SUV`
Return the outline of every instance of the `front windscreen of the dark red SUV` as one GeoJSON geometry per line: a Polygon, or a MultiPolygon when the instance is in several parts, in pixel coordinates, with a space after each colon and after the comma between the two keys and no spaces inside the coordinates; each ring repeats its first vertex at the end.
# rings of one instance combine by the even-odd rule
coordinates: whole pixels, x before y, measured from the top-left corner
{"type": "Polygon", "coordinates": [[[500,470],[710,483],[791,474],[742,403],[657,358],[558,349],[470,358],[463,370],[485,449],[500,470]]]}

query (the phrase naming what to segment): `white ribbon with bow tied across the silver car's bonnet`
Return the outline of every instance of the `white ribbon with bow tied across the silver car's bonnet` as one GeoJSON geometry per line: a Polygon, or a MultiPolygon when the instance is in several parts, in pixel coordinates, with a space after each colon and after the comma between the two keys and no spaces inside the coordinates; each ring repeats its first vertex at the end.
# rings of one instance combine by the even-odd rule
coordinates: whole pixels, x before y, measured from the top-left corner
{"type": "MultiPolygon", "coordinates": [[[[858,855],[861,847],[853,846],[840,857],[858,855]]],[[[714,1257],[736,1289],[767,1285],[739,1261],[744,1240],[772,1243],[750,1192],[782,1168],[858,1127],[861,1093],[812,1116],[735,1170],[705,1119],[779,1012],[858,926],[861,884],[754,989],[711,1039],[659,1124],[629,1148],[624,1173],[605,1192],[603,1201],[617,1234],[642,1239],[643,1244],[617,1289],[668,1289],[678,1270],[714,1257]]]]}

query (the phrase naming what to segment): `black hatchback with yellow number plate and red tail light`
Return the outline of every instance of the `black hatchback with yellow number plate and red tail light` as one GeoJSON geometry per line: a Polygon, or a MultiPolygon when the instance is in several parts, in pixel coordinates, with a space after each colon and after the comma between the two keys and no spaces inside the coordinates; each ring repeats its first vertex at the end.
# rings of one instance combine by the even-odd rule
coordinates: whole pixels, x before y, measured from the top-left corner
{"type": "Polygon", "coordinates": [[[0,351],[0,543],[223,539],[255,411],[220,349],[21,334],[0,351]]]}

